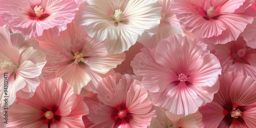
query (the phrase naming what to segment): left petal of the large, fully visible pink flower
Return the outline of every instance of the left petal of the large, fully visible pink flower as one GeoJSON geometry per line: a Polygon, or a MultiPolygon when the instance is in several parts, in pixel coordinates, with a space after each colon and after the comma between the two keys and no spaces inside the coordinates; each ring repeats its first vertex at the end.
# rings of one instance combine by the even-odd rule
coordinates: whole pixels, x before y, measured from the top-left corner
{"type": "Polygon", "coordinates": [[[159,65],[155,61],[155,49],[143,48],[131,61],[134,73],[143,75],[143,86],[151,92],[163,92],[168,83],[177,77],[175,72],[169,68],[159,65]],[[161,87],[155,86],[161,82],[161,87]]]}

